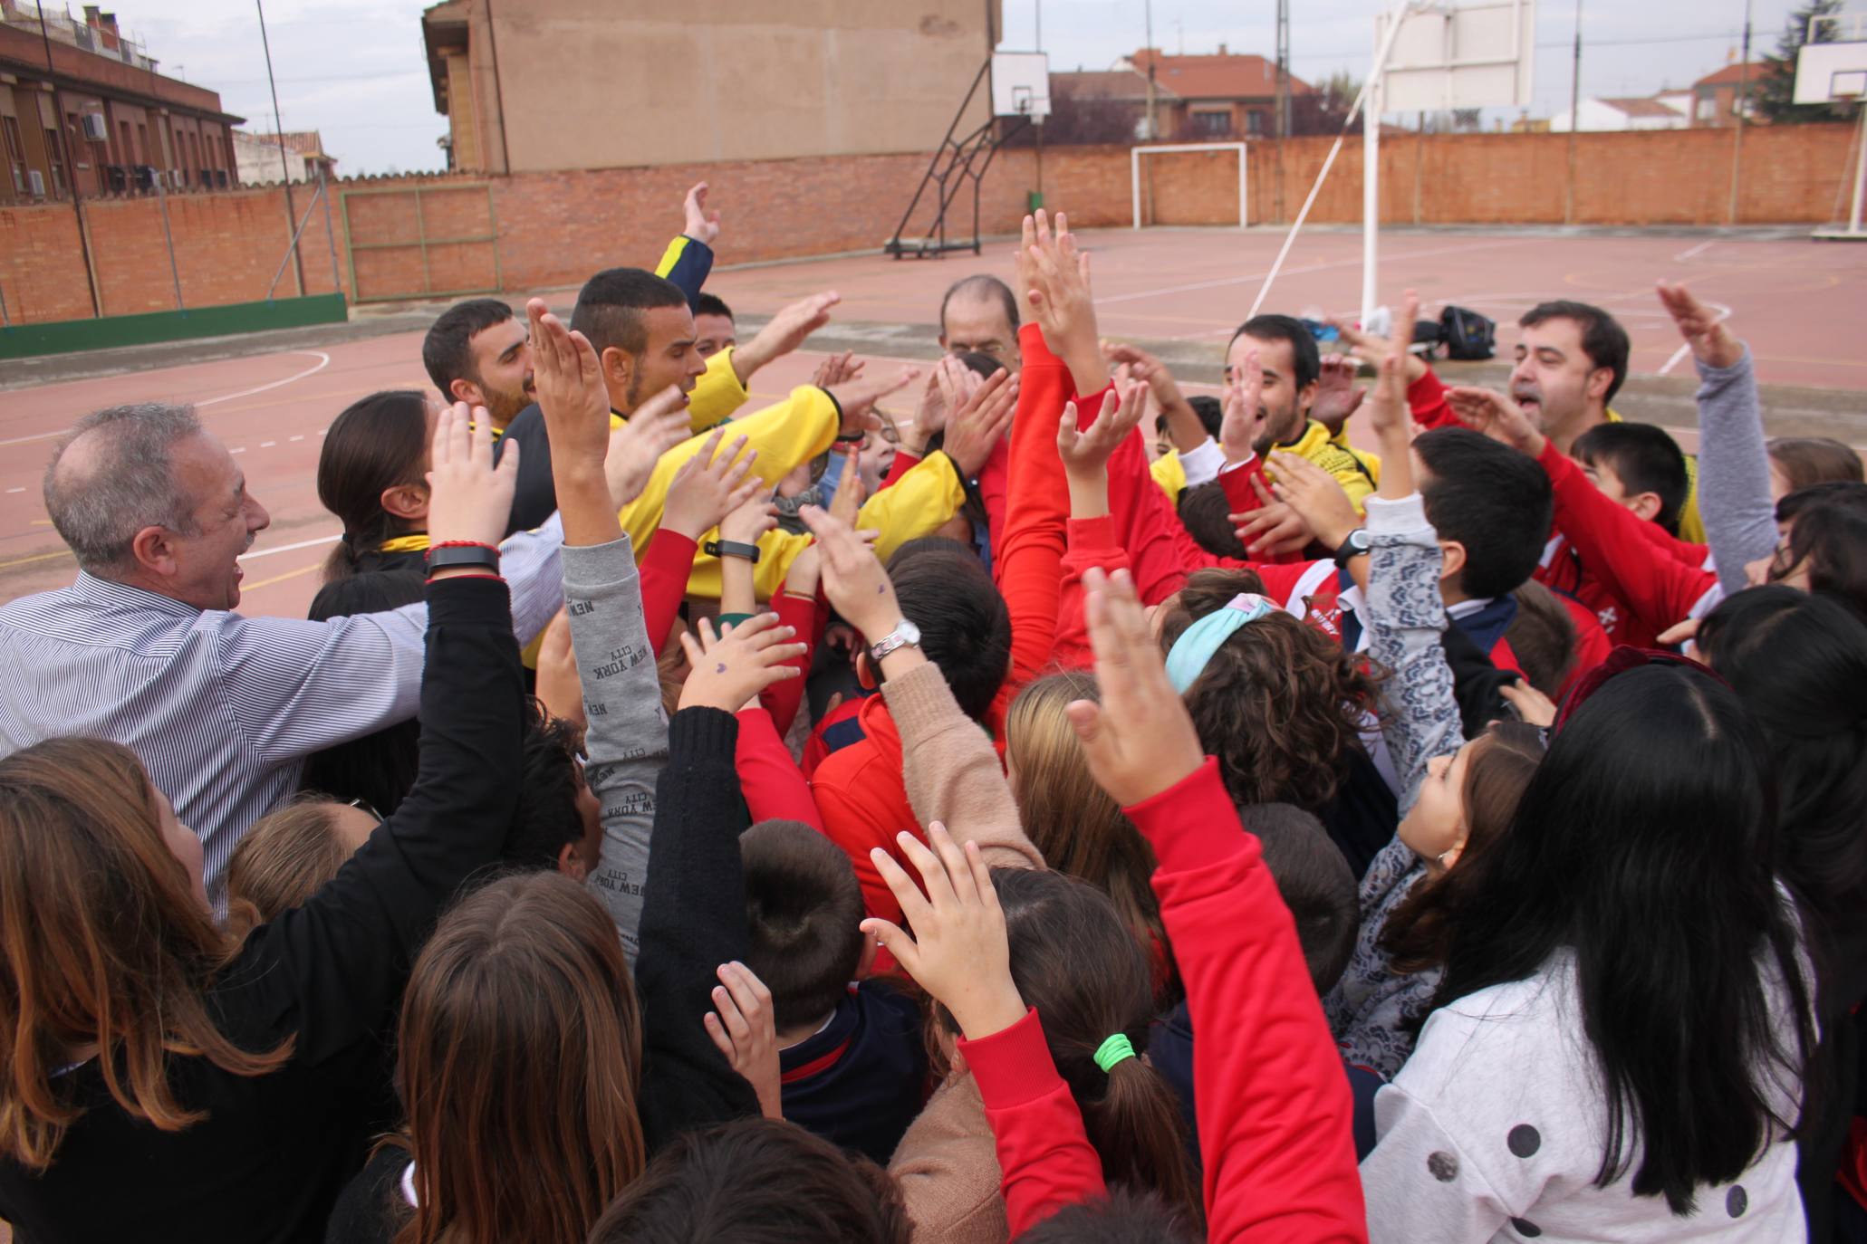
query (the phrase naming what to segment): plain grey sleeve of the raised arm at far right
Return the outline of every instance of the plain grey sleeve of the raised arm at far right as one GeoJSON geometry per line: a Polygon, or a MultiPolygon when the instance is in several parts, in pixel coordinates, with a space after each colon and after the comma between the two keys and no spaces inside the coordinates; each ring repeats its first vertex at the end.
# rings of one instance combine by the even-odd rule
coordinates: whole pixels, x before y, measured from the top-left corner
{"type": "MultiPolygon", "coordinates": [[[[1693,360],[1697,362],[1697,360],[1693,360]]],[[[1699,367],[1699,517],[1725,593],[1746,586],[1744,565],[1776,550],[1770,451],[1757,371],[1746,347],[1731,367],[1699,367]]]]}

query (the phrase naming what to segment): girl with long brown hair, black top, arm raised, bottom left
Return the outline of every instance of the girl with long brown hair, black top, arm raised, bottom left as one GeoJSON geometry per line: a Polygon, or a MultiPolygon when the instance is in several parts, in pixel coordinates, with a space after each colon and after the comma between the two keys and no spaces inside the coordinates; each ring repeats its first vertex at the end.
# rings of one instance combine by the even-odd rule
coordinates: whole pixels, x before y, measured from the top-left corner
{"type": "MultiPolygon", "coordinates": [[[[493,545],[512,466],[441,420],[437,533],[493,545]]],[[[21,1238],[317,1240],[362,1158],[435,908],[498,856],[525,688],[495,574],[428,591],[422,774],[330,884],[235,942],[127,750],[0,761],[0,1218],[21,1238]]]]}

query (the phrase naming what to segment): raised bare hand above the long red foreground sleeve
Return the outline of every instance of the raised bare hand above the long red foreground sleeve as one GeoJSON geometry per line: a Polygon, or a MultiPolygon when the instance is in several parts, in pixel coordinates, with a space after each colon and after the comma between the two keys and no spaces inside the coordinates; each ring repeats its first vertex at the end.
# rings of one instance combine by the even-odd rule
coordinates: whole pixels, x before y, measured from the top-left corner
{"type": "Polygon", "coordinates": [[[1111,576],[1090,567],[1083,589],[1102,703],[1077,699],[1066,712],[1096,785],[1133,808],[1191,776],[1204,750],[1186,701],[1167,681],[1161,647],[1128,571],[1111,576]]]}

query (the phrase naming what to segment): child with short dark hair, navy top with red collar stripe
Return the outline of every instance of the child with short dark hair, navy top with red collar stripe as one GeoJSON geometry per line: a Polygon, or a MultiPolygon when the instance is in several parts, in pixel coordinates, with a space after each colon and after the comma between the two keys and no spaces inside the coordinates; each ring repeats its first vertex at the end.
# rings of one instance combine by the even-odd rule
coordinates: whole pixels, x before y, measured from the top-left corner
{"type": "Polygon", "coordinates": [[[745,966],[771,990],[784,1117],[887,1162],[926,1097],[920,1007],[892,985],[851,985],[876,944],[857,927],[849,858],[799,821],[739,836],[745,966]]]}

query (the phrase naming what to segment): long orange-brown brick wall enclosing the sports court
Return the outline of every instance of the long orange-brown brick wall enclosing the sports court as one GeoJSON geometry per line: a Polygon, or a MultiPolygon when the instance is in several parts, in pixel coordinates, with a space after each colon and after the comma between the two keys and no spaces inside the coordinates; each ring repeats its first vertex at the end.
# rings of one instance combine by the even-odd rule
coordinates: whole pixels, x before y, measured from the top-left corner
{"type": "MultiPolygon", "coordinates": [[[[1848,153],[1848,125],[1748,131],[1740,224],[1828,220],[1848,153]]],[[[1579,224],[1725,224],[1731,201],[1731,131],[1581,134],[1576,220],[1579,224]]],[[[1275,179],[1294,214],[1329,149],[1327,138],[1253,144],[1249,218],[1275,216],[1275,179]]],[[[1228,151],[1143,159],[1143,218],[1156,224],[1225,226],[1238,220],[1238,162],[1228,151]]],[[[887,241],[926,170],[924,155],[835,157],[672,164],[474,179],[407,177],[336,183],[340,282],[347,295],[414,295],[424,289],[416,237],[474,239],[431,246],[428,289],[508,291],[575,285],[592,270],[646,263],[680,224],[678,203],[695,181],[713,187],[711,205],[728,222],[719,261],[741,263],[876,250],[887,241]],[[420,187],[420,207],[413,190],[420,187]],[[345,201],[345,192],[347,201],[345,201]],[[355,229],[351,289],[344,213],[355,229]],[[400,246],[396,246],[400,242],[400,246]],[[388,246],[379,246],[388,244],[388,246]]],[[[1566,134],[1398,134],[1382,144],[1382,218],[1389,224],[1559,224],[1568,175],[1566,134]]],[[[1001,151],[980,194],[988,233],[1012,233],[1036,187],[1036,153],[1001,151]]],[[[310,187],[295,187],[299,213],[310,187]]],[[[1081,228],[1130,222],[1128,147],[1044,151],[1044,198],[1081,228]]],[[[960,196],[969,226],[971,190],[960,196]]],[[[189,306],[256,300],[278,269],[289,237],[284,188],[172,194],[170,226],[189,306]]],[[[174,310],[175,295],[153,198],[84,205],[105,313],[174,310]]],[[[909,237],[926,229],[922,200],[909,237]]],[[[1361,218],[1359,140],[1344,149],[1316,200],[1316,222],[1361,218]]],[[[302,239],[308,293],[329,293],[330,242],[323,209],[302,239]]],[[[278,285],[295,291],[288,269],[278,285]]],[[[78,228],[69,203],[0,207],[0,297],[15,321],[91,313],[78,228]]]]}

